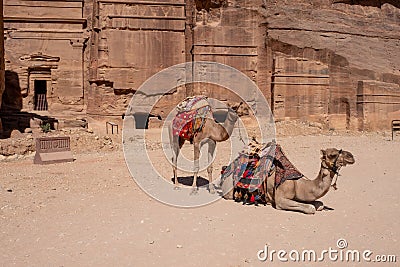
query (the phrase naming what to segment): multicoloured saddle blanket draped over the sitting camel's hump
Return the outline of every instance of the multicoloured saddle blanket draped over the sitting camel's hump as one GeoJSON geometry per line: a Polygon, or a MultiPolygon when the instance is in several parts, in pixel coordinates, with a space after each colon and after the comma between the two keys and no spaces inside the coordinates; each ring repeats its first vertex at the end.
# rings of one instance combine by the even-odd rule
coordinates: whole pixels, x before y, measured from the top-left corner
{"type": "Polygon", "coordinates": [[[303,177],[287,159],[281,146],[276,144],[265,147],[260,156],[240,153],[229,166],[223,169],[221,180],[233,175],[234,187],[253,192],[261,188],[264,180],[274,169],[275,187],[286,180],[297,180],[303,177]]]}

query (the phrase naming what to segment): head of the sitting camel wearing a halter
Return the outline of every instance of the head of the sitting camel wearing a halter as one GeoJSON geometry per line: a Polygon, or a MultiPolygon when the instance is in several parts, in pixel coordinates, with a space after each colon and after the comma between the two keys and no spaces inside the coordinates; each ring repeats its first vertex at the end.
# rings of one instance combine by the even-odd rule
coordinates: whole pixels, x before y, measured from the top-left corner
{"type": "Polygon", "coordinates": [[[355,159],[353,155],[345,150],[338,150],[336,148],[328,148],[325,150],[321,150],[322,157],[321,161],[325,167],[336,172],[343,166],[347,164],[354,164],[355,159]]]}

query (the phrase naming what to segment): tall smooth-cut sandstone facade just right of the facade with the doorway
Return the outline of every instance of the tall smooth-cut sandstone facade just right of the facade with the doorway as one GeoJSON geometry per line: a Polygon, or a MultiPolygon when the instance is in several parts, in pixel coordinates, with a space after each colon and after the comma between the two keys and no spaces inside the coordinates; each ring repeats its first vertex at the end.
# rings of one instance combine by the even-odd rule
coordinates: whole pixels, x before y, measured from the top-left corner
{"type": "Polygon", "coordinates": [[[121,117],[146,79],[185,62],[185,3],[99,0],[93,12],[87,113],[121,117]]]}

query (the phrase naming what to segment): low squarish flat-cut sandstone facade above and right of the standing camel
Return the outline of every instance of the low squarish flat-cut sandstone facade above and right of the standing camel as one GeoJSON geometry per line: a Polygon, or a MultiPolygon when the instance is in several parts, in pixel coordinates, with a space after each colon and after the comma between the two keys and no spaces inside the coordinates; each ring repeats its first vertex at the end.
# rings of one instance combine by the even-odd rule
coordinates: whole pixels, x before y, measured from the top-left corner
{"type": "Polygon", "coordinates": [[[326,122],[329,67],[317,60],[275,53],[272,109],[275,120],[305,119],[326,122]]]}

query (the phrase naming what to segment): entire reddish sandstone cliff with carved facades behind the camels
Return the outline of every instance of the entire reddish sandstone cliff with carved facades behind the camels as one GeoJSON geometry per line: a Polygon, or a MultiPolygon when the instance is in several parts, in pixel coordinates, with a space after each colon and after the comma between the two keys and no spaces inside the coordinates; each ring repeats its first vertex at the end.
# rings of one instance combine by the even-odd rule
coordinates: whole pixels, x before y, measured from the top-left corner
{"type": "MultiPolygon", "coordinates": [[[[27,111],[38,109],[38,95],[44,94],[45,107],[56,117],[120,118],[153,74],[178,63],[214,61],[254,81],[277,121],[376,130],[399,118],[398,1],[5,0],[4,5],[6,68],[18,75],[27,111]]],[[[176,79],[179,84],[181,77],[176,79]]],[[[181,99],[199,93],[240,101],[217,85],[178,86],[152,114],[165,119],[181,99]]],[[[143,105],[150,100],[144,96],[143,105]]]]}

